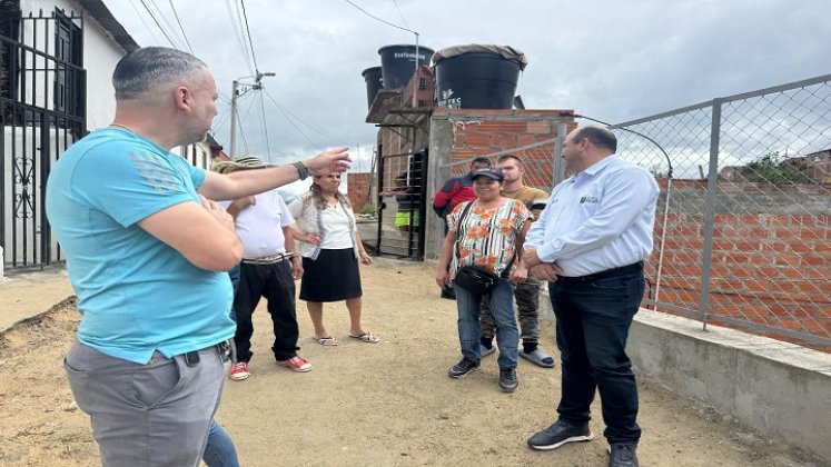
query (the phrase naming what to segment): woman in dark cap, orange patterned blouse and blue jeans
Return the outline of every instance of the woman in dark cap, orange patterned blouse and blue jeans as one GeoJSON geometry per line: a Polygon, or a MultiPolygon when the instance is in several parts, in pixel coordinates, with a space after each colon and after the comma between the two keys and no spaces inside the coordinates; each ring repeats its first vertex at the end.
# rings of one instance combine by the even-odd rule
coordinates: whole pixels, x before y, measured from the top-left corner
{"type": "Polygon", "coordinates": [[[447,216],[448,232],[438,257],[436,284],[447,287],[464,266],[478,266],[499,279],[486,295],[454,284],[463,358],[449,369],[448,375],[463,378],[479,368],[479,302],[485,299],[496,324],[499,389],[513,393],[518,386],[516,360],[520,332],[514,317],[512,281],[525,280],[527,275],[521,252],[525,234],[531,227],[527,220],[533,216],[522,201],[499,195],[504,181],[499,169],[477,170],[473,173],[473,180],[476,199],[459,203],[447,216]],[[451,271],[447,265],[452,265],[451,271]]]}

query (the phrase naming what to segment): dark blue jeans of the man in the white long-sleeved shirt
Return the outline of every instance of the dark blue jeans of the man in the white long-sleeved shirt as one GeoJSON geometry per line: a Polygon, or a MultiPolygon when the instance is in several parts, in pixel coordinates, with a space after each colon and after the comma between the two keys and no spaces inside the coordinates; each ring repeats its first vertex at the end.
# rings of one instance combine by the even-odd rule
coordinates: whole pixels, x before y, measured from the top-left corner
{"type": "Polygon", "coordinates": [[[637,443],[637,384],[625,347],[643,298],[642,264],[582,278],[563,277],[551,282],[548,290],[563,367],[560,418],[575,425],[588,423],[597,389],[609,443],[637,443]]]}

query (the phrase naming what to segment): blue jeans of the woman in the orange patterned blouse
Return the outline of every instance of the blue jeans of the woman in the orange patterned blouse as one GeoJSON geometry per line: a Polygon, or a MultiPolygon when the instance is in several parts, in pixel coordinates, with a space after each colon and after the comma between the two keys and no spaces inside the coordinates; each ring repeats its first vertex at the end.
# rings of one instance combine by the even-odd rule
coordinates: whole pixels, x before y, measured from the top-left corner
{"type": "Polygon", "coordinates": [[[462,356],[469,360],[478,360],[479,338],[479,304],[488,300],[491,316],[496,325],[496,344],[499,347],[499,358],[496,360],[499,369],[516,368],[520,357],[520,331],[514,317],[514,285],[507,279],[501,279],[489,296],[477,296],[466,289],[453,286],[456,291],[456,307],[458,308],[458,342],[462,356]]]}

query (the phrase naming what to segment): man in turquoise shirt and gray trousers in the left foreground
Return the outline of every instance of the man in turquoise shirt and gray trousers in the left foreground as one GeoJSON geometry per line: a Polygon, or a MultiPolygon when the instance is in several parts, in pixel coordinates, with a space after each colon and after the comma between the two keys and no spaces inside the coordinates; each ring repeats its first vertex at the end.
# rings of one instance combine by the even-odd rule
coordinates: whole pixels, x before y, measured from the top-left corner
{"type": "Polygon", "coordinates": [[[82,315],[65,367],[103,465],[196,466],[219,404],[235,325],[227,271],[243,245],[211,199],[342,172],[345,148],[221,176],[169,152],[216,116],[210,71],[174,49],[125,56],[116,118],[72,145],[47,186],[47,215],[82,315]]]}

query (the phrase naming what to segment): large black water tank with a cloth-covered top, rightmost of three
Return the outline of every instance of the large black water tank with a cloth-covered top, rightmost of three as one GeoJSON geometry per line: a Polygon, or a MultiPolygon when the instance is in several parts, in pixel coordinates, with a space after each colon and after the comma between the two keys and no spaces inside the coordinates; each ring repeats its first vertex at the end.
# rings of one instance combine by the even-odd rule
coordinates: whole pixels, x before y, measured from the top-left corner
{"type": "Polygon", "coordinates": [[[433,56],[437,107],[511,109],[525,56],[506,46],[456,46],[433,56]]]}

